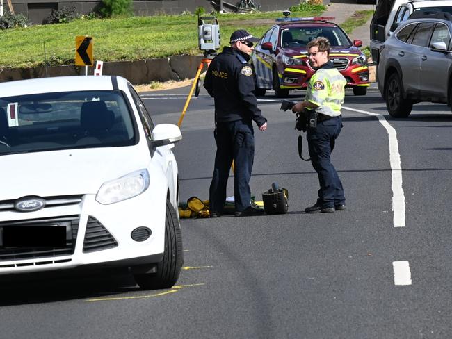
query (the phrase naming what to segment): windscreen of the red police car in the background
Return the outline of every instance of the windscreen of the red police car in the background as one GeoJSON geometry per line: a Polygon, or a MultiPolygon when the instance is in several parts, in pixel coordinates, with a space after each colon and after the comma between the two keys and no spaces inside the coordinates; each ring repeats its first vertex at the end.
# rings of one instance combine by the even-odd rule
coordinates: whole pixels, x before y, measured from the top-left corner
{"type": "Polygon", "coordinates": [[[284,28],[281,37],[281,46],[306,47],[309,41],[325,37],[330,40],[332,47],[350,47],[351,42],[347,35],[338,27],[312,26],[284,28]]]}

